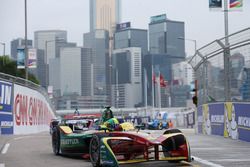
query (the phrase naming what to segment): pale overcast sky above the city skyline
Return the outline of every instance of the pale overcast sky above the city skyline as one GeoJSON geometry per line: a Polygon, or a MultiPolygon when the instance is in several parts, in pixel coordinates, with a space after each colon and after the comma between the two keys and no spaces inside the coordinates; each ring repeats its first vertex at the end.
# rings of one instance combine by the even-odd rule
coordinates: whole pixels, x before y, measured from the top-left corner
{"type": "MultiPolygon", "coordinates": [[[[185,22],[186,38],[195,39],[200,48],[224,36],[223,12],[212,12],[209,0],[122,0],[122,22],[132,28],[148,29],[150,17],[166,14],[168,19],[185,22]]],[[[229,13],[229,33],[250,27],[250,0],[243,0],[243,11],[229,13]]],[[[28,39],[37,30],[66,30],[68,42],[83,45],[89,31],[89,0],[27,0],[28,39]]],[[[0,42],[24,38],[24,0],[0,0],[0,42]]],[[[194,53],[194,43],[186,41],[186,52],[194,53]]],[[[0,45],[0,55],[3,46],[0,45]]]]}

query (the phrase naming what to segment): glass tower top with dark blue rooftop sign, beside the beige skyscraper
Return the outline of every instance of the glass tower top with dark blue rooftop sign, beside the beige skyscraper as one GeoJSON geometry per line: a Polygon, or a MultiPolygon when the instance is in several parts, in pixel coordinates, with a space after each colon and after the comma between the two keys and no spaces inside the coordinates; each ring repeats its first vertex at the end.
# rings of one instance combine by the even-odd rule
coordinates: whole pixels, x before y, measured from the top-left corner
{"type": "Polygon", "coordinates": [[[130,22],[117,25],[114,34],[114,49],[140,47],[142,55],[148,52],[148,31],[143,29],[130,28],[130,22]],[[120,28],[122,27],[122,28],[120,28]]]}

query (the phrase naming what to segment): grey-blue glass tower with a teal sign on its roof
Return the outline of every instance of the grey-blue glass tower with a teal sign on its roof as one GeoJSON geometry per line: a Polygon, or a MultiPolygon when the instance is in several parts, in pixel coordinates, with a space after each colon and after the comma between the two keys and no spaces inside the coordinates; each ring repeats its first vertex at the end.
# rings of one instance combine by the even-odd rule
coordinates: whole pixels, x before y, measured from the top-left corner
{"type": "Polygon", "coordinates": [[[166,14],[151,17],[149,23],[150,53],[185,58],[185,42],[180,40],[180,37],[185,37],[184,22],[170,20],[166,14]]]}

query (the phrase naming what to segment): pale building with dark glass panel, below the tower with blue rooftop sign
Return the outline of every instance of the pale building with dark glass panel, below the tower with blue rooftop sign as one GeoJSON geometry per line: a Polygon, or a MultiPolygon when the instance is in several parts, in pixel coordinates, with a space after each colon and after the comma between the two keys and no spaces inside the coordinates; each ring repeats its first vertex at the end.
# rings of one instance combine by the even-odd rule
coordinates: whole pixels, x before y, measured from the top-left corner
{"type": "Polygon", "coordinates": [[[112,105],[131,108],[142,102],[141,48],[116,49],[112,54],[112,105]]]}

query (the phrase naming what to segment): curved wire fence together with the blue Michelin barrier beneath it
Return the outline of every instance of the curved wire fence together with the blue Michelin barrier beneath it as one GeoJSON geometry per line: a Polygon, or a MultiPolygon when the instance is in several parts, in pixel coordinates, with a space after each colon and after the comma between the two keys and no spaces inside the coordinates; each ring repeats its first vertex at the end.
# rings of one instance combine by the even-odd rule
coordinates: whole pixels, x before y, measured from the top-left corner
{"type": "Polygon", "coordinates": [[[189,63],[198,83],[198,131],[250,141],[250,28],[198,49],[189,63]]]}

